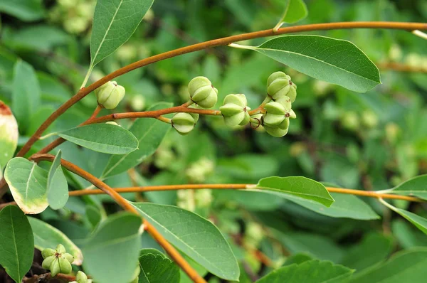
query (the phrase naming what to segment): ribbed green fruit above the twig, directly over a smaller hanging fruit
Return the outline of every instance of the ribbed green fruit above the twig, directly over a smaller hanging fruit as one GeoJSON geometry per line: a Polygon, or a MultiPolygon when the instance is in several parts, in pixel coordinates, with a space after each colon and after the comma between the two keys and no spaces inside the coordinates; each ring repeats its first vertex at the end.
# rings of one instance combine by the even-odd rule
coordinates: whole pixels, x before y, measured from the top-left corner
{"type": "Polygon", "coordinates": [[[218,100],[218,90],[206,77],[196,77],[189,82],[191,100],[203,108],[211,108],[218,100]]]}

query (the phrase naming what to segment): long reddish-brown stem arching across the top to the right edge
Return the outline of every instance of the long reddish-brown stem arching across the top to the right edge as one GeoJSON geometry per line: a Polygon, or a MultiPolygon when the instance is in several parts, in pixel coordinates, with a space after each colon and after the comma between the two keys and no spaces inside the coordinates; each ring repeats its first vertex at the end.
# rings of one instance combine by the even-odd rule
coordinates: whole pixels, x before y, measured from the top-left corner
{"type": "Polygon", "coordinates": [[[299,33],[302,31],[325,31],[331,29],[346,29],[346,28],[389,28],[389,29],[399,29],[405,31],[414,31],[414,30],[426,30],[427,23],[402,23],[402,22],[387,22],[387,21],[359,21],[359,22],[338,22],[338,23],[316,23],[303,26],[290,26],[286,28],[280,28],[278,31],[273,31],[273,29],[268,29],[265,31],[255,31],[252,33],[243,33],[236,36],[228,36],[225,38],[214,39],[212,41],[206,41],[203,43],[196,43],[191,46],[186,46],[183,48],[178,48],[171,50],[165,53],[151,56],[149,58],[144,58],[135,63],[127,65],[123,68],[115,70],[114,72],[106,75],[104,78],[97,80],[92,85],[88,87],[81,88],[76,95],[70,98],[67,102],[61,105],[51,116],[46,119],[43,124],[36,130],[36,132],[28,139],[26,144],[23,145],[21,150],[16,154],[16,156],[24,156],[30,149],[31,146],[37,142],[38,138],[43,134],[43,132],[55,121],[61,114],[63,114],[68,108],[73,106],[76,102],[80,101],[83,97],[88,95],[93,90],[97,89],[101,85],[104,85],[105,82],[108,82],[114,78],[117,78],[119,75],[130,72],[137,68],[144,67],[160,60],[165,60],[172,58],[178,55],[196,52],[199,50],[204,50],[206,48],[212,48],[216,46],[227,46],[230,43],[236,41],[245,41],[253,38],[262,38],[267,36],[275,36],[278,34],[285,33],[299,33]]]}

